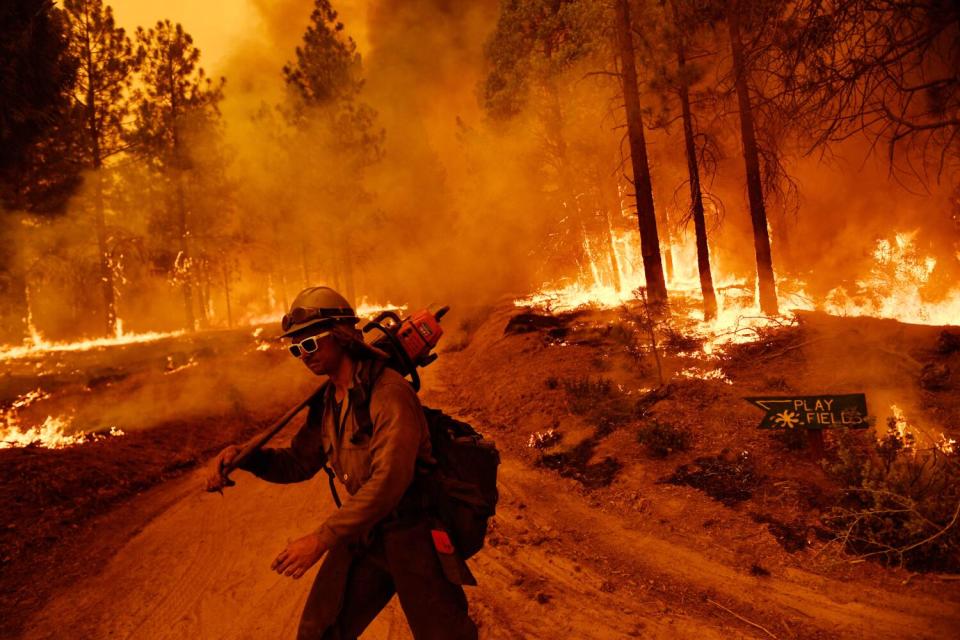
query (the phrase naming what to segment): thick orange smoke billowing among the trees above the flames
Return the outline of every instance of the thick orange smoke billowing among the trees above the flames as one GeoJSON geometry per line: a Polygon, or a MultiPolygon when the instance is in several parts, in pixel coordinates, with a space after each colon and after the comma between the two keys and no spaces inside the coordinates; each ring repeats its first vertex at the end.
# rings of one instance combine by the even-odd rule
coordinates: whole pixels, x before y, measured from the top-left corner
{"type": "MultiPolygon", "coordinates": [[[[374,129],[385,134],[382,157],[352,176],[353,160],[331,144],[329,130],[284,122],[282,69],[295,59],[313,3],[248,0],[242,24],[210,54],[215,75],[227,78],[222,132],[206,131],[191,142],[200,167],[188,185],[191,241],[208,259],[194,304],[209,326],[225,326],[228,315],[234,325],[277,315],[297,290],[315,284],[337,287],[355,302],[483,304],[528,293],[548,279],[589,276],[589,259],[603,247],[584,248],[577,234],[636,229],[632,189],[622,175],[616,81],[585,79],[602,66],[596,59],[557,80],[566,153],[583,174],[578,190],[567,192],[556,167],[543,160],[550,134],[543,96],[508,123],[491,122],[479,104],[497,0],[334,5],[363,55],[359,99],[376,112],[374,129]],[[338,181],[339,191],[331,187],[338,181]],[[348,187],[355,193],[344,192],[348,187]],[[609,219],[596,215],[603,207],[609,219]]],[[[118,19],[124,8],[117,7],[118,19]]],[[[203,9],[204,15],[215,10],[203,9]]],[[[191,31],[190,16],[170,17],[191,31]]],[[[205,42],[198,36],[196,43],[209,67],[205,42]]],[[[734,131],[717,134],[725,157],[711,191],[724,211],[710,215],[714,272],[720,282],[750,283],[755,260],[739,144],[734,131]]],[[[682,223],[680,138],[678,126],[648,137],[664,248],[670,239],[692,246],[692,225],[682,223]]],[[[787,158],[801,199],[796,212],[768,203],[778,274],[825,294],[869,271],[878,240],[918,230],[917,251],[937,259],[934,278],[949,288],[960,275],[952,185],[912,194],[891,179],[883,159],[861,162],[866,151],[852,141],[828,162],[787,158]]],[[[178,328],[184,302],[174,273],[169,185],[118,165],[112,179],[125,187],[108,193],[107,212],[111,241],[120,247],[113,265],[118,311],[128,331],[178,328]]],[[[35,324],[52,337],[97,334],[102,303],[89,184],[61,219],[12,233],[35,324]]],[[[692,255],[675,252],[678,272],[695,274],[692,255]]]]}

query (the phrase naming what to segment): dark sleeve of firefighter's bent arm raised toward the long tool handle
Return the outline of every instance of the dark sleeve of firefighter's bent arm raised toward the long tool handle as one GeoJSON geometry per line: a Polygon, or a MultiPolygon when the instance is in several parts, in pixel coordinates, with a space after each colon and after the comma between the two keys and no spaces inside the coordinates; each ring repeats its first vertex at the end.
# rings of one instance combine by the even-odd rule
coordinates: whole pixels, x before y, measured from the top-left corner
{"type": "Polygon", "coordinates": [[[309,480],[327,461],[323,450],[320,420],[311,407],[300,431],[293,436],[290,446],[280,449],[260,449],[239,468],[268,482],[289,484],[309,480]]]}

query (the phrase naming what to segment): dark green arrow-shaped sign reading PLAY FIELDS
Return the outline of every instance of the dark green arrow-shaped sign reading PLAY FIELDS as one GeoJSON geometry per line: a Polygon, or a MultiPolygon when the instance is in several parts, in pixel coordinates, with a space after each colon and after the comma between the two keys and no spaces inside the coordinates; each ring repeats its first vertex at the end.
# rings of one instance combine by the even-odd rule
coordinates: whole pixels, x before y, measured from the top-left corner
{"type": "Polygon", "coordinates": [[[866,429],[867,396],[758,396],[744,398],[767,415],[760,429],[866,429]]]}

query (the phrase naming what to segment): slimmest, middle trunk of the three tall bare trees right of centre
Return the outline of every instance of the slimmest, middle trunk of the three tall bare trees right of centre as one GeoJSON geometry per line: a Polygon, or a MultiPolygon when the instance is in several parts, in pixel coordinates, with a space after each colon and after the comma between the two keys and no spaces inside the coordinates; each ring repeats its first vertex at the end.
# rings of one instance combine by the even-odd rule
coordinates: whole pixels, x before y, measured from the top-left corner
{"type": "MultiPolygon", "coordinates": [[[[673,5],[674,25],[680,30],[680,17],[676,0],[673,5]]],[[[683,140],[687,152],[687,173],[690,177],[690,206],[693,213],[693,229],[697,239],[697,271],[700,274],[700,291],[703,295],[703,318],[717,317],[717,294],[713,289],[713,273],[710,270],[710,247],[707,244],[707,221],[703,215],[703,191],[700,188],[700,166],[697,162],[697,144],[693,137],[693,114],[690,111],[690,87],[687,85],[687,55],[682,33],[677,35],[677,70],[680,78],[680,110],[683,114],[683,140]]]]}

